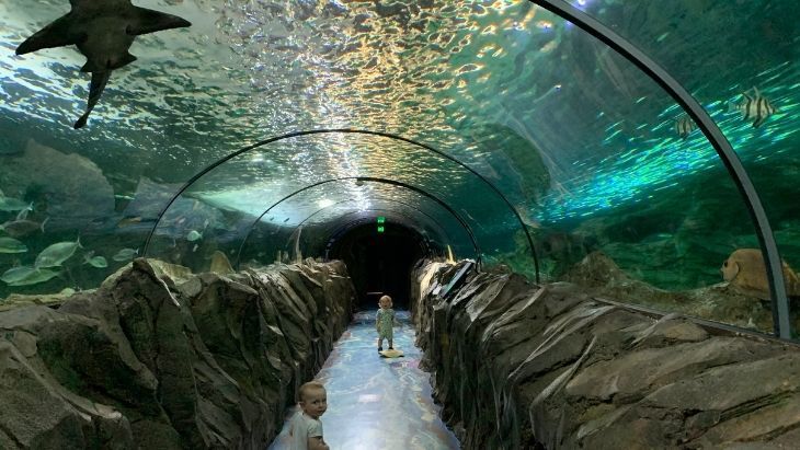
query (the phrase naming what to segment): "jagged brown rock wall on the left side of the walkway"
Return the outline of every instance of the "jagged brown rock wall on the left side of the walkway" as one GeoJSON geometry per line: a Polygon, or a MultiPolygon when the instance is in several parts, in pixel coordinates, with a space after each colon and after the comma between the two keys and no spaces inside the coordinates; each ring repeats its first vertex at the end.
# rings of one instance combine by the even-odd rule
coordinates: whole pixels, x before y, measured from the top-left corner
{"type": "Polygon", "coordinates": [[[344,264],[227,277],[139,258],[0,312],[0,448],[264,449],[350,321],[344,264]]]}

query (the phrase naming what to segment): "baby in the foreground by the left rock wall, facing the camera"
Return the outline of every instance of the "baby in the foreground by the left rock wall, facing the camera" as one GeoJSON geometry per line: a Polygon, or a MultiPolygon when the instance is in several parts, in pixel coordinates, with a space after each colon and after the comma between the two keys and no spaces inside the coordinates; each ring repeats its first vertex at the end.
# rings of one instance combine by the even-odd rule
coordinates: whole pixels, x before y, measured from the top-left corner
{"type": "Polygon", "coordinates": [[[299,389],[300,411],[292,417],[289,436],[292,450],[329,450],[322,439],[320,416],[328,409],[325,388],[318,381],[309,381],[299,389]]]}

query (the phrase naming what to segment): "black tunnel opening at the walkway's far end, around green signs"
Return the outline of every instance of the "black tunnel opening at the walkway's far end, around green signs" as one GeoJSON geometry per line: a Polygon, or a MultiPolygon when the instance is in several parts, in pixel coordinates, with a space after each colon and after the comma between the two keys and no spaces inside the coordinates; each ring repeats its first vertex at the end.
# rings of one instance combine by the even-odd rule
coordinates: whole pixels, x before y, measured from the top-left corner
{"type": "Polygon", "coordinates": [[[425,239],[399,223],[354,227],[331,243],[328,256],[342,259],[357,293],[356,310],[378,308],[381,295],[391,296],[395,309],[408,309],[411,269],[428,254],[425,239]]]}

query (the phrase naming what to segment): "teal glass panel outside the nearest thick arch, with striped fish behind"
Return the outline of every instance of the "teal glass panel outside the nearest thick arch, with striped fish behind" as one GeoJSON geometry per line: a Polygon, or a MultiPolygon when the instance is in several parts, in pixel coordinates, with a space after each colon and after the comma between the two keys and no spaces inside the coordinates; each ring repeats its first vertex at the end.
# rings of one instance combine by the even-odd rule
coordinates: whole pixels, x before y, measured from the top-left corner
{"type": "MultiPolygon", "coordinates": [[[[795,273],[800,267],[800,208],[790,200],[800,195],[800,125],[795,119],[800,112],[800,3],[571,3],[645,51],[706,105],[758,191],[789,266],[789,296],[800,296],[795,273]]],[[[800,325],[797,311],[792,324],[796,330],[800,325]]]]}

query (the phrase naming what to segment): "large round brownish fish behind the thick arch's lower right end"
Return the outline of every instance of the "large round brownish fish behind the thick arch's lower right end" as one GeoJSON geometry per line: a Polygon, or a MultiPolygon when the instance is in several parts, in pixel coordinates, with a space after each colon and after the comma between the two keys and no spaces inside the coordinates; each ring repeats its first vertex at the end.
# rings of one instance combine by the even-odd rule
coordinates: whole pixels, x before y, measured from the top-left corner
{"type": "MultiPolygon", "coordinates": [[[[789,296],[800,296],[800,279],[792,268],[781,261],[784,281],[789,296]]],[[[722,278],[736,290],[762,300],[769,300],[767,267],[761,249],[738,249],[722,263],[722,278]]]]}

